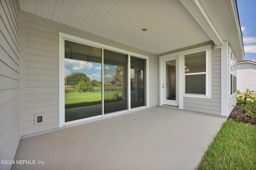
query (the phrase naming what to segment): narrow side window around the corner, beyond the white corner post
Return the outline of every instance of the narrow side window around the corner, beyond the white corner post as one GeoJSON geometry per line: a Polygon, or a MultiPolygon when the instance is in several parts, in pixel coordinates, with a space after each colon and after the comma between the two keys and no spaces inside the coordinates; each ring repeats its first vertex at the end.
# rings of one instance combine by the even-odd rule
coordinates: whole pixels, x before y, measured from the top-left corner
{"type": "Polygon", "coordinates": [[[236,93],[236,57],[234,56],[231,48],[230,48],[230,96],[236,93]]]}

